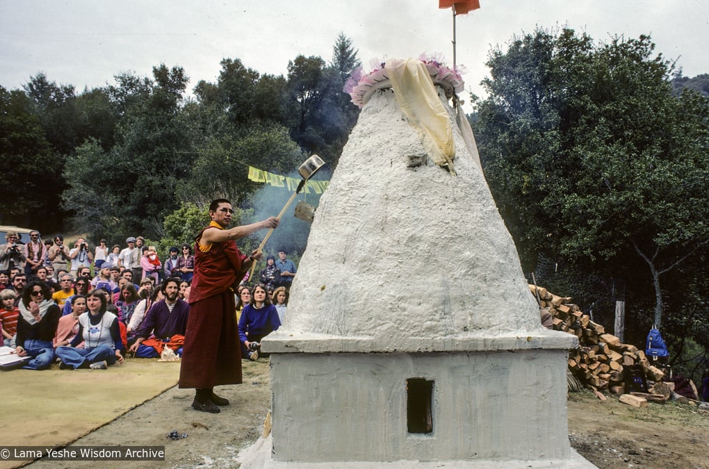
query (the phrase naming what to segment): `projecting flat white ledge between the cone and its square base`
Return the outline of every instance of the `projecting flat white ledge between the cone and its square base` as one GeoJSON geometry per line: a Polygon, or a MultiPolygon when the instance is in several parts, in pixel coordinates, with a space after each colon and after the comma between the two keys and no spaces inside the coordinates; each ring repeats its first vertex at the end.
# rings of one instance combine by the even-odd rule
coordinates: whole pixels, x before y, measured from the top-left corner
{"type": "Polygon", "coordinates": [[[367,336],[334,336],[303,332],[277,331],[264,338],[262,351],[268,354],[322,354],[372,352],[449,352],[562,349],[579,346],[573,334],[558,331],[520,332],[492,337],[459,334],[444,338],[403,337],[387,340],[367,336]]]}

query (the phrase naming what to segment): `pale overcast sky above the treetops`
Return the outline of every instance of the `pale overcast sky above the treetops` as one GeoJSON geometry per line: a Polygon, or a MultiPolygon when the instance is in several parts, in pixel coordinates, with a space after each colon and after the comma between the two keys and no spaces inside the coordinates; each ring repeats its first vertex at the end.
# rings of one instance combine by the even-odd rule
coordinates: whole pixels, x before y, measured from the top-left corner
{"type": "MultiPolygon", "coordinates": [[[[649,34],[686,77],[709,72],[707,0],[481,0],[457,17],[457,62],[467,89],[493,45],[536,26],[567,26],[595,40],[649,34]]],[[[223,57],[260,73],[286,74],[297,55],[330,62],[342,32],[372,59],[442,53],[452,63],[452,14],[437,0],[0,0],[0,85],[21,88],[38,72],[77,91],[152,67],[184,67],[191,81],[216,81],[223,57]]]]}

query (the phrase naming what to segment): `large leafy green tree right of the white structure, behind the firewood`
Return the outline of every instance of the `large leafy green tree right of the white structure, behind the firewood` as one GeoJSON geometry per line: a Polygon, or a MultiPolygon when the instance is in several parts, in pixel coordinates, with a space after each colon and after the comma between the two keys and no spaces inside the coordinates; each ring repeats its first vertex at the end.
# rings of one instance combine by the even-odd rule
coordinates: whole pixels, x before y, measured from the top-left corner
{"type": "MultiPolygon", "coordinates": [[[[594,45],[537,30],[491,52],[476,123],[491,191],[520,250],[549,252],[630,288],[663,285],[705,252],[709,102],[672,93],[647,36],[594,45]],[[642,259],[643,276],[623,271],[642,259]],[[648,275],[649,274],[649,275],[648,275]]],[[[642,265],[641,263],[641,265],[642,265]]]]}

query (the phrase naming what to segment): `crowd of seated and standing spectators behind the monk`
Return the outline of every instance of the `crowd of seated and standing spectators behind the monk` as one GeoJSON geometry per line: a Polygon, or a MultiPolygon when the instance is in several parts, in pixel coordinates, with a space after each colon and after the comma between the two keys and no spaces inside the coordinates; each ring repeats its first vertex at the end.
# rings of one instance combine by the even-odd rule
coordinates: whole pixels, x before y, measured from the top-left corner
{"type": "MultiPolygon", "coordinates": [[[[93,252],[82,237],[72,249],[61,235],[30,238],[21,244],[8,232],[0,245],[0,346],[27,357],[21,368],[106,369],[126,356],[160,357],[166,347],[182,355],[194,273],[189,245],[182,253],[171,247],[163,264],[143,237],[128,237],[124,249],[101,239],[93,252]]],[[[257,360],[260,341],[284,319],[296,273],[286,255],[269,256],[261,283],[250,288],[247,274],[235,293],[243,359],[257,360]]]]}

